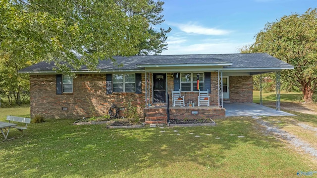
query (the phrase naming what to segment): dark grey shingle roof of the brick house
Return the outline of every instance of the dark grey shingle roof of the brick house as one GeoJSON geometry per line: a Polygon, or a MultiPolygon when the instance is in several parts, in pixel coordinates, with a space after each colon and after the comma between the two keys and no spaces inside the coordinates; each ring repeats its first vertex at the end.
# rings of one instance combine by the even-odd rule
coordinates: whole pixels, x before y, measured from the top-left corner
{"type": "MultiPolygon", "coordinates": [[[[274,58],[265,53],[249,54],[215,54],[215,55],[159,55],[159,56],[132,56],[132,57],[113,57],[115,65],[111,60],[100,60],[98,69],[102,71],[113,70],[144,70],[137,65],[163,65],[163,64],[225,64],[232,63],[230,66],[224,66],[228,69],[239,68],[292,68],[293,66],[274,58]]],[[[49,72],[53,71],[53,62],[40,62],[20,70],[21,73],[49,72]]],[[[88,71],[86,66],[82,66],[80,71],[88,71]]]]}

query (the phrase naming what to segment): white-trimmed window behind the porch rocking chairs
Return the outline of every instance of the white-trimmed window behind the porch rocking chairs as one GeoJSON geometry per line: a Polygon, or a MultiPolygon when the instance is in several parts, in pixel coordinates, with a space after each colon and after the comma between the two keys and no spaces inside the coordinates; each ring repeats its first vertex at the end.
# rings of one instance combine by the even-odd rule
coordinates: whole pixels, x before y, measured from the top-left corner
{"type": "MultiPolygon", "coordinates": [[[[199,73],[199,88],[204,90],[204,73],[199,73]]],[[[180,73],[181,91],[199,91],[197,90],[197,73],[180,73]]]]}

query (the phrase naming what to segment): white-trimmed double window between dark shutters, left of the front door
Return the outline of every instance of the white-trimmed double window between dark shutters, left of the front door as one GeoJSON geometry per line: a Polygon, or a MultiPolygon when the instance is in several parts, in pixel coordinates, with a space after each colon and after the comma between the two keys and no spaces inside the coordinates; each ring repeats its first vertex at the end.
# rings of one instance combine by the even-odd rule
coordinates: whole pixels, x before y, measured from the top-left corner
{"type": "Polygon", "coordinates": [[[113,74],[113,92],[135,92],[135,74],[113,74]]]}

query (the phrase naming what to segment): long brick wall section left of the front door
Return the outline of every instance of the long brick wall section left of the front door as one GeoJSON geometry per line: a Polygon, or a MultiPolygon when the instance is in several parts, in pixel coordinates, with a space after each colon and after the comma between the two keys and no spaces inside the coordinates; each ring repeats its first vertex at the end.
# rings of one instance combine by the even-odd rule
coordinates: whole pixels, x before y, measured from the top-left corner
{"type": "MultiPolygon", "coordinates": [[[[142,94],[106,94],[105,74],[78,74],[73,79],[73,93],[56,95],[56,75],[30,75],[31,117],[82,118],[108,114],[111,104],[124,107],[132,101],[143,114],[145,107],[145,76],[142,74],[142,94]],[[62,110],[67,107],[67,110],[62,110]]],[[[121,111],[122,113],[122,111],[121,111]]],[[[143,115],[142,115],[143,116],[143,115]]]]}

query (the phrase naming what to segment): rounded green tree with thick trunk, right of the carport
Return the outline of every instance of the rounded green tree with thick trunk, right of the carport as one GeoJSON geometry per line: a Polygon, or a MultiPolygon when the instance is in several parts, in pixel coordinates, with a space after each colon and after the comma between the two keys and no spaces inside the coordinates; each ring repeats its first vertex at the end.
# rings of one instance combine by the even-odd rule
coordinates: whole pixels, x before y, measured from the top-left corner
{"type": "Polygon", "coordinates": [[[283,16],[265,24],[256,35],[256,42],[241,49],[241,53],[267,53],[294,65],[294,70],[282,71],[282,79],[290,87],[298,87],[306,103],[313,102],[317,89],[317,9],[304,14],[283,16]]]}

